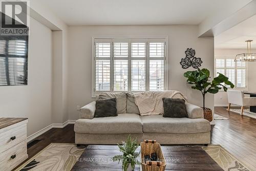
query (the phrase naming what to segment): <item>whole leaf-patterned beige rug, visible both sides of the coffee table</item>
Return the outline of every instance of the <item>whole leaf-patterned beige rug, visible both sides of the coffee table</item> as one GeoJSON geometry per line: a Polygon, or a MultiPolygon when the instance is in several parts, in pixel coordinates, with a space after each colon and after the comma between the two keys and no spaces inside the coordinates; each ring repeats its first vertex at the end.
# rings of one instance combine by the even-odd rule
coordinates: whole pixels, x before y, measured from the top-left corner
{"type": "MultiPolygon", "coordinates": [[[[249,171],[238,159],[220,145],[202,146],[206,153],[225,171],[249,171]]],[[[15,171],[69,171],[83,153],[85,147],[75,144],[51,143],[15,171]]]]}

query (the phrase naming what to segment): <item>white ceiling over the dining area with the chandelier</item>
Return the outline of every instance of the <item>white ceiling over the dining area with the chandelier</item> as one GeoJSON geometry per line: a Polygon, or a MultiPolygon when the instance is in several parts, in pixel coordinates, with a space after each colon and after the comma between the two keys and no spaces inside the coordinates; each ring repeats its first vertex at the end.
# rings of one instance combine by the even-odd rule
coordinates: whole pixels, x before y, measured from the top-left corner
{"type": "Polygon", "coordinates": [[[246,49],[245,40],[251,42],[256,49],[256,15],[215,37],[216,49],[246,49]]]}

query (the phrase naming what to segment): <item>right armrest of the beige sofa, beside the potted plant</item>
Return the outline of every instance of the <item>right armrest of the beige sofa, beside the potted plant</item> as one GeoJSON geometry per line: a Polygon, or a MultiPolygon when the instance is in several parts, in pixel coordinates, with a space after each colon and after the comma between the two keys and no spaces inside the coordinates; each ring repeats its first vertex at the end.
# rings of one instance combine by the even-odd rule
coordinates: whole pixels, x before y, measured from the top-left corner
{"type": "Polygon", "coordinates": [[[197,119],[197,118],[204,118],[204,111],[197,105],[191,103],[185,103],[187,109],[188,118],[197,119]]]}

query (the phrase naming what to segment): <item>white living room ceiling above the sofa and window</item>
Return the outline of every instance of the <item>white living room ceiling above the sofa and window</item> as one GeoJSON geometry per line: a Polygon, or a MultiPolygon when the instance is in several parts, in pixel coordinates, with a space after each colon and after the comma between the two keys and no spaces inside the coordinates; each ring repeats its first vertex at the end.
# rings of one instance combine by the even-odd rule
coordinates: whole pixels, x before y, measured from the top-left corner
{"type": "Polygon", "coordinates": [[[251,0],[33,0],[49,7],[70,26],[198,25],[225,9],[251,0]]]}

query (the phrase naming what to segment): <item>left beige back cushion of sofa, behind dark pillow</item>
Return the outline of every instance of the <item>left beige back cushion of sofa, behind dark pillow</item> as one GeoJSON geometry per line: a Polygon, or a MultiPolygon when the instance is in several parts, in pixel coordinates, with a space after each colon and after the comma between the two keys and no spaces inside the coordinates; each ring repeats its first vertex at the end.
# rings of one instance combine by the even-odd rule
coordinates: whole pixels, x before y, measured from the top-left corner
{"type": "Polygon", "coordinates": [[[112,93],[104,92],[100,93],[98,99],[116,98],[116,109],[118,114],[126,113],[126,93],[112,93]]]}

